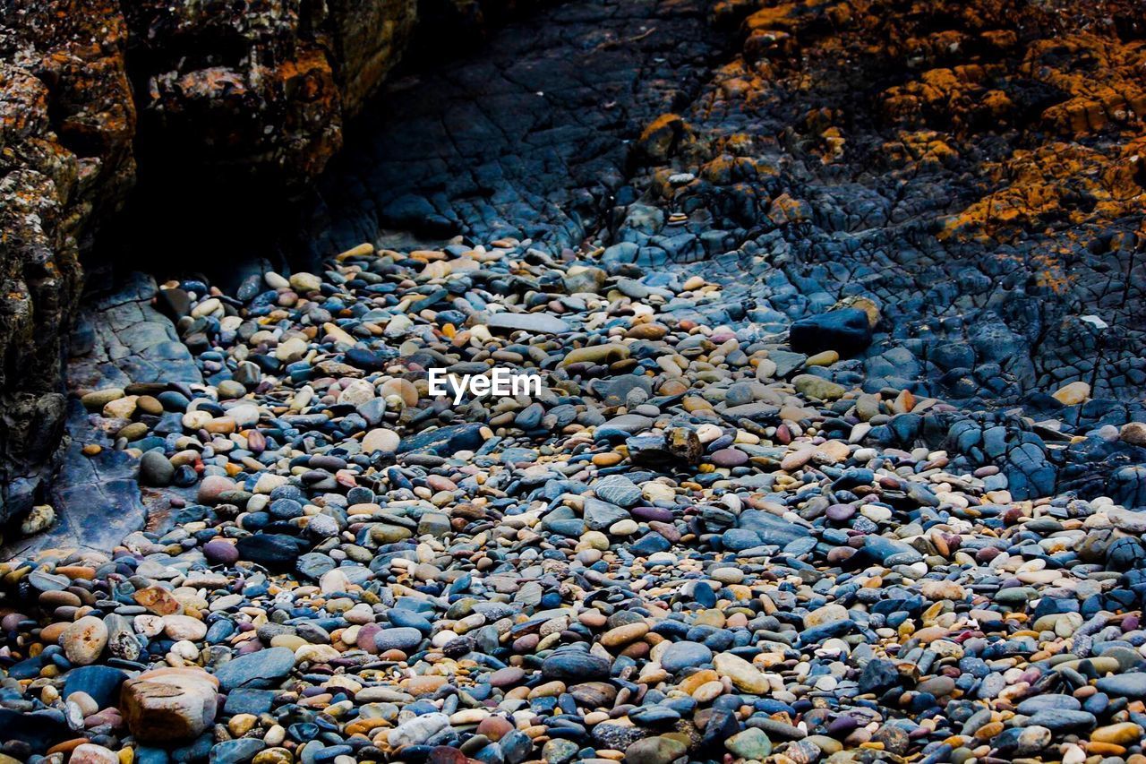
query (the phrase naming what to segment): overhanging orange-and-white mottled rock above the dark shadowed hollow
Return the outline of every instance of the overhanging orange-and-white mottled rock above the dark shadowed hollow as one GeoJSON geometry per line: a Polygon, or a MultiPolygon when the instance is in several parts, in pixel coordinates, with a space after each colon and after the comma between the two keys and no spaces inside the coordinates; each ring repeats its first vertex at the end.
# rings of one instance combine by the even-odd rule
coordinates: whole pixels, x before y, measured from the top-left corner
{"type": "Polygon", "coordinates": [[[416,3],[143,0],[124,11],[149,163],[303,184],[400,59],[416,3]]]}

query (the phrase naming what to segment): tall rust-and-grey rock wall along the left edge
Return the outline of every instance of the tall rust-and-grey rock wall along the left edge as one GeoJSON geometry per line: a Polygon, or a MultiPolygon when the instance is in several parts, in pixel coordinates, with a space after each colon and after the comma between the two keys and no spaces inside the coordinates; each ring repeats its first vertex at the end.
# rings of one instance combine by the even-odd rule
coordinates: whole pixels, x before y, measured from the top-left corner
{"type": "Polygon", "coordinates": [[[132,184],[125,47],[110,0],[0,13],[0,520],[33,504],[60,443],[79,250],[132,184]]]}

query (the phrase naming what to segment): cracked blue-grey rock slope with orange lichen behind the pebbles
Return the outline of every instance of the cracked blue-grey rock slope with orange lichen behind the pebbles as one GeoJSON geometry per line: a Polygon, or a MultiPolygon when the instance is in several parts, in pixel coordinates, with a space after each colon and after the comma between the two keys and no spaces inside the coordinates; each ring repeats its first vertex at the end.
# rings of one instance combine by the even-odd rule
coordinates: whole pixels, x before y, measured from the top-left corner
{"type": "Polygon", "coordinates": [[[1144,24],[1116,0],[562,5],[387,84],[312,242],[588,241],[611,273],[740,274],[688,318],[764,334],[862,301],[870,344],[819,374],[980,412],[872,439],[996,459],[1015,496],[1138,497],[1121,446],[1062,444],[1146,416],[1144,24]]]}

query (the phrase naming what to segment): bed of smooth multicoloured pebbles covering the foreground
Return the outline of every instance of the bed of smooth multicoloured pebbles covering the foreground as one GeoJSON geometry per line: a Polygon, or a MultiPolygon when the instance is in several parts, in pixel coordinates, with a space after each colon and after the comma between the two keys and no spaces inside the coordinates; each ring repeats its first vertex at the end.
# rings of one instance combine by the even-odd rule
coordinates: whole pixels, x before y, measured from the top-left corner
{"type": "Polygon", "coordinates": [[[81,402],[170,513],[0,563],[0,762],[1146,762],[1146,513],[833,374],[871,301],[769,334],[602,255],[164,284],[205,384],[81,402]],[[494,367],[541,393],[430,395],[494,367]]]}

